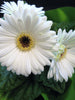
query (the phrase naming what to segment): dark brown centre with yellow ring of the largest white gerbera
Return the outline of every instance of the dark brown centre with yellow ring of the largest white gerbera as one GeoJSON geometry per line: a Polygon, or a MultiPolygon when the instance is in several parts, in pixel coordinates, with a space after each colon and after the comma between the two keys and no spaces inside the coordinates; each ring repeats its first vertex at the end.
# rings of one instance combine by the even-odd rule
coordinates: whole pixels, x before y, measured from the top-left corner
{"type": "Polygon", "coordinates": [[[34,46],[34,39],[30,34],[22,33],[17,37],[17,47],[22,51],[28,51],[34,46]]]}

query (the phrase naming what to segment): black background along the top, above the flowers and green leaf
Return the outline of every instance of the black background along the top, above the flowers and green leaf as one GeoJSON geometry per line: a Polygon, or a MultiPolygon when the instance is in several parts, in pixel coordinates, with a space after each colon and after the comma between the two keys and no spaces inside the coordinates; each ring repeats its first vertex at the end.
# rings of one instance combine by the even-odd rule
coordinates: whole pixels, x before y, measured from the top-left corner
{"type": "MultiPolygon", "coordinates": [[[[3,1],[15,1],[17,0],[0,0],[0,5],[3,1]]],[[[73,6],[75,7],[75,0],[24,0],[29,4],[36,4],[36,6],[43,6],[44,10],[55,9],[64,6],[73,6]]]]}

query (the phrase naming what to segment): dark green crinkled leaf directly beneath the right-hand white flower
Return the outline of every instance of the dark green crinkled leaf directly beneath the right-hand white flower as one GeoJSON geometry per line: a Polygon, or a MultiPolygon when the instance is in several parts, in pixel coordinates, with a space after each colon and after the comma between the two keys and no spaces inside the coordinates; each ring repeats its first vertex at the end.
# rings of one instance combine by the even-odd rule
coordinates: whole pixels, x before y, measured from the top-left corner
{"type": "Polygon", "coordinates": [[[42,82],[42,84],[49,90],[51,89],[59,93],[63,93],[65,90],[65,82],[64,81],[62,83],[56,82],[53,78],[47,79],[48,69],[49,69],[49,66],[46,66],[45,71],[42,72],[40,76],[36,76],[39,79],[39,82],[42,82]]]}

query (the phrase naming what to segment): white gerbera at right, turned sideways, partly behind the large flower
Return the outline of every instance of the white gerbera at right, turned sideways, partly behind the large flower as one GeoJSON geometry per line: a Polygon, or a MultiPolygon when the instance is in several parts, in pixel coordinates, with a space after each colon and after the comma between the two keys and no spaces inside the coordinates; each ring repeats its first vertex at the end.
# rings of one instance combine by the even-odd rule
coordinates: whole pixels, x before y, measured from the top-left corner
{"type": "Polygon", "coordinates": [[[68,33],[61,29],[58,30],[59,44],[58,52],[55,52],[55,59],[52,61],[48,72],[48,78],[56,81],[68,81],[68,77],[72,77],[75,67],[75,31],[70,30],[68,33]]]}

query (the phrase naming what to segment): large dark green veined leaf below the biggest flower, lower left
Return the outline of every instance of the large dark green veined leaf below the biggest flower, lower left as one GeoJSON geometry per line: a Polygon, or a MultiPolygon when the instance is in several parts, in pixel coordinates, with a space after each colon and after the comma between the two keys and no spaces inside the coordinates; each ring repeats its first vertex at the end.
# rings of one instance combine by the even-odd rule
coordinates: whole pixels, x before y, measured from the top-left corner
{"type": "Polygon", "coordinates": [[[0,100],[34,100],[41,90],[41,84],[33,75],[17,76],[0,66],[0,100]]]}

